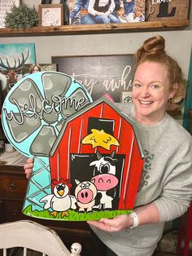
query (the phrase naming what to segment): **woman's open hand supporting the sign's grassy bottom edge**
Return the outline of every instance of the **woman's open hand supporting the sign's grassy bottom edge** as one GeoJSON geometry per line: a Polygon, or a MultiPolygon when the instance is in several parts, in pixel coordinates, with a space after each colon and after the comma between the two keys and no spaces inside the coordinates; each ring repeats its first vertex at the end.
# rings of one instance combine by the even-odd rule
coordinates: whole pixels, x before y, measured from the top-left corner
{"type": "Polygon", "coordinates": [[[102,218],[98,221],[88,221],[90,225],[98,227],[106,232],[119,232],[120,230],[125,229],[133,225],[132,218],[129,217],[129,214],[118,215],[115,218],[102,218]]]}

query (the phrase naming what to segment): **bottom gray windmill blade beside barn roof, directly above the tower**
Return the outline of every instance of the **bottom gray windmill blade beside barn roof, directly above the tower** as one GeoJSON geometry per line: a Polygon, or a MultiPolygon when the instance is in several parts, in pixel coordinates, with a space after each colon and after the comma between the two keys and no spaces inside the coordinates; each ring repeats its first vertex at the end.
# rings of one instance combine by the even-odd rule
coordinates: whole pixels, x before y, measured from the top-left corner
{"type": "Polygon", "coordinates": [[[34,156],[49,157],[50,149],[57,138],[53,126],[42,126],[37,137],[33,140],[29,151],[34,156]]]}

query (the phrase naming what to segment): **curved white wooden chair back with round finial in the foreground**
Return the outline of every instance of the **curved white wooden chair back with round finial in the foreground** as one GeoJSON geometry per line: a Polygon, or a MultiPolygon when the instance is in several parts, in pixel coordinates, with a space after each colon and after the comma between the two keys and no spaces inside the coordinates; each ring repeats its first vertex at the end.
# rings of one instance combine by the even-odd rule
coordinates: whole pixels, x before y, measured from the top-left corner
{"type": "Polygon", "coordinates": [[[21,220],[0,224],[0,249],[3,249],[3,256],[8,255],[7,249],[15,247],[24,248],[24,256],[27,255],[28,249],[40,252],[43,256],[80,256],[81,245],[77,245],[79,254],[71,254],[54,230],[33,221],[21,220]]]}

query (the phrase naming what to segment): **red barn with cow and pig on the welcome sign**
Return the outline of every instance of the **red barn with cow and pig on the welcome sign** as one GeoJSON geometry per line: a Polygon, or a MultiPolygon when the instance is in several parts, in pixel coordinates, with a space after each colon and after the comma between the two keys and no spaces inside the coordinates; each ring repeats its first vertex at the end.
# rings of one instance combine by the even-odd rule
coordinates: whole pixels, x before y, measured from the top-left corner
{"type": "Polygon", "coordinates": [[[64,193],[68,188],[69,206],[61,207],[61,218],[90,220],[129,213],[143,158],[134,121],[107,99],[68,117],[50,151],[52,191],[64,193]]]}

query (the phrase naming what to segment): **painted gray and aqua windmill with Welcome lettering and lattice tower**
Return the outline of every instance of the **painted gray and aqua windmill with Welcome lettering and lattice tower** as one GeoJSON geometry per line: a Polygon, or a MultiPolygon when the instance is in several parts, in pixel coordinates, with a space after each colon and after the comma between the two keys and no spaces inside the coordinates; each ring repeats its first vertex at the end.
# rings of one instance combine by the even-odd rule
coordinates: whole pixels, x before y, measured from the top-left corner
{"type": "Polygon", "coordinates": [[[22,78],[2,106],[7,139],[27,157],[34,157],[24,207],[43,210],[42,196],[51,192],[49,154],[68,116],[92,101],[79,82],[63,73],[39,72],[22,78]]]}

